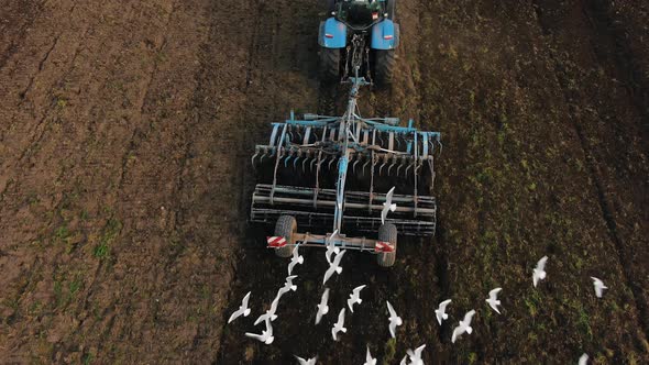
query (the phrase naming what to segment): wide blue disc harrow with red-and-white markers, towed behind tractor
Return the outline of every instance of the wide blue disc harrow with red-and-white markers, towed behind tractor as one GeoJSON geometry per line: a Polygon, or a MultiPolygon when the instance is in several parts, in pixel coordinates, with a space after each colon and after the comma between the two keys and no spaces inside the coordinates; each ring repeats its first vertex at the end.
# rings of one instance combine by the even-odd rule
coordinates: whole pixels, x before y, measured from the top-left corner
{"type": "MultiPolygon", "coordinates": [[[[290,235],[286,245],[372,251],[384,243],[342,232],[374,235],[384,224],[403,235],[433,235],[437,206],[430,192],[440,133],[420,131],[413,120],[400,126],[396,118],[361,117],[359,91],[369,82],[359,77],[349,82],[342,117],[307,113],[298,119],[292,111],[288,120],[273,123],[267,144],[256,145],[252,164],[261,181],[252,197],[251,221],[274,223],[289,215],[310,230],[284,232],[290,235]],[[384,221],[382,211],[392,203],[396,208],[384,221]]],[[[396,242],[394,246],[396,251],[396,242]]]]}

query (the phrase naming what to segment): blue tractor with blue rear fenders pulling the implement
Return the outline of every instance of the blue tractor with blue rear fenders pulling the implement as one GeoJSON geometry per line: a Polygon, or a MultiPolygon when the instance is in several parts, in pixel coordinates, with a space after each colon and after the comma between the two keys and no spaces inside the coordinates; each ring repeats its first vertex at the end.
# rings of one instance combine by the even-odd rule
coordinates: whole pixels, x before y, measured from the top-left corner
{"type": "Polygon", "coordinates": [[[328,0],[327,10],[318,35],[321,80],[346,80],[358,68],[372,84],[392,84],[399,45],[396,0],[328,0]]]}

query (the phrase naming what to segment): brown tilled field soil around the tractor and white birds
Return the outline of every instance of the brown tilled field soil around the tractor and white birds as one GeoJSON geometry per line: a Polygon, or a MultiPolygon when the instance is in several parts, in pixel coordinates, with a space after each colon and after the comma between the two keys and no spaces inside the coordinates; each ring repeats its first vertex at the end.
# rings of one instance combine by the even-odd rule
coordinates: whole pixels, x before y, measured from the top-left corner
{"type": "Polygon", "coordinates": [[[246,339],[286,273],[246,223],[270,123],[340,111],[308,1],[10,1],[0,9],[0,358],[7,363],[649,362],[649,8],[402,0],[392,91],[364,115],[442,132],[433,240],[348,253],[331,313],[304,251],[276,340],[246,339]],[[530,272],[549,255],[548,279],[530,272]],[[610,287],[594,298],[590,276],[610,287]],[[330,325],[367,284],[346,334],[330,325]],[[484,299],[504,288],[504,312],[484,299]],[[224,322],[249,290],[253,313],[224,322]],[[437,324],[452,298],[474,330],[437,324]],[[388,341],[385,300],[403,317],[388,341]],[[394,355],[391,355],[393,354],[394,355]]]}

